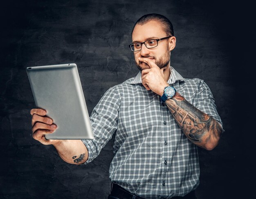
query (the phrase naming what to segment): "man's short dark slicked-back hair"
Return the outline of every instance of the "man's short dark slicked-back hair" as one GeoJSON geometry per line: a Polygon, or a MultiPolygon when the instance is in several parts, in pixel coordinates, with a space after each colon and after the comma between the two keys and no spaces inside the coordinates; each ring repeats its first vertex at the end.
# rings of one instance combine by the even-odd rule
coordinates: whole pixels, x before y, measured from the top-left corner
{"type": "Polygon", "coordinates": [[[137,24],[143,25],[151,20],[157,20],[157,21],[161,22],[167,36],[174,36],[173,25],[172,25],[171,21],[168,20],[168,18],[166,18],[165,16],[160,15],[160,14],[155,14],[155,13],[146,14],[146,15],[142,16],[141,18],[139,18],[132,29],[132,33],[137,24]]]}

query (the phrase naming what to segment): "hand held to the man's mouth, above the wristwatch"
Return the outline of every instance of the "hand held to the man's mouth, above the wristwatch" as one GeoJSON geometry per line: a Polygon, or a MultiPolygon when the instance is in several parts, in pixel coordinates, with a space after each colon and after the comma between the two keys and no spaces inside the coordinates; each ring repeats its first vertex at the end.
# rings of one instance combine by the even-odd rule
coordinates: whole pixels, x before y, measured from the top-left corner
{"type": "Polygon", "coordinates": [[[139,61],[145,62],[150,69],[144,69],[141,72],[142,84],[147,90],[152,90],[160,96],[164,93],[164,87],[168,86],[168,83],[164,79],[164,69],[167,67],[159,68],[153,60],[149,58],[140,57],[139,61]]]}

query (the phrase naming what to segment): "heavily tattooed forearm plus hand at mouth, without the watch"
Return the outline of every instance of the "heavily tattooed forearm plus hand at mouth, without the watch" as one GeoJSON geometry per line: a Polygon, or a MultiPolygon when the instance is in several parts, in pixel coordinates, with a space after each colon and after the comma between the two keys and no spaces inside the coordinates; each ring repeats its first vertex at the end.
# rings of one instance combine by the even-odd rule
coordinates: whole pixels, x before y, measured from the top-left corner
{"type": "MultiPolygon", "coordinates": [[[[139,60],[150,66],[150,69],[144,69],[141,72],[142,84],[147,90],[151,89],[159,96],[162,96],[164,87],[168,86],[167,80],[170,76],[168,70],[170,69],[166,67],[159,69],[148,58],[139,58],[139,60]]],[[[198,110],[179,93],[166,100],[166,105],[191,142],[206,150],[212,150],[218,145],[222,127],[213,117],[198,110]]]]}

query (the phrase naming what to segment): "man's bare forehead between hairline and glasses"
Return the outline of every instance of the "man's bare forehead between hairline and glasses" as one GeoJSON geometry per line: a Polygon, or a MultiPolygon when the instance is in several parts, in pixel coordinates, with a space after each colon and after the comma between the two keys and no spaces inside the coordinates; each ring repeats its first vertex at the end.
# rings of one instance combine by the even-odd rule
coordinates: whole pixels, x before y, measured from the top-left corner
{"type": "Polygon", "coordinates": [[[161,38],[166,36],[162,23],[151,20],[143,25],[136,25],[132,32],[132,41],[143,42],[148,38],[161,38]]]}

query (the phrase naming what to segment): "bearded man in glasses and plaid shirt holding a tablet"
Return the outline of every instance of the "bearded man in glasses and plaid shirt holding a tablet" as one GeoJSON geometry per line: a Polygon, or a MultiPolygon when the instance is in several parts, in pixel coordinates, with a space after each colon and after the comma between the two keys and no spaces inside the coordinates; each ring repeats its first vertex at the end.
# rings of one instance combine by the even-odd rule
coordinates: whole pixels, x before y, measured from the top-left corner
{"type": "Polygon", "coordinates": [[[175,43],[166,17],[142,16],[130,45],[140,72],[108,89],[94,108],[95,139],[46,140],[56,126],[40,109],[31,110],[33,138],[53,144],[68,163],[87,164],[113,137],[109,198],[196,198],[197,146],[215,148],[222,122],[204,81],[183,78],[170,66],[175,43]]]}

